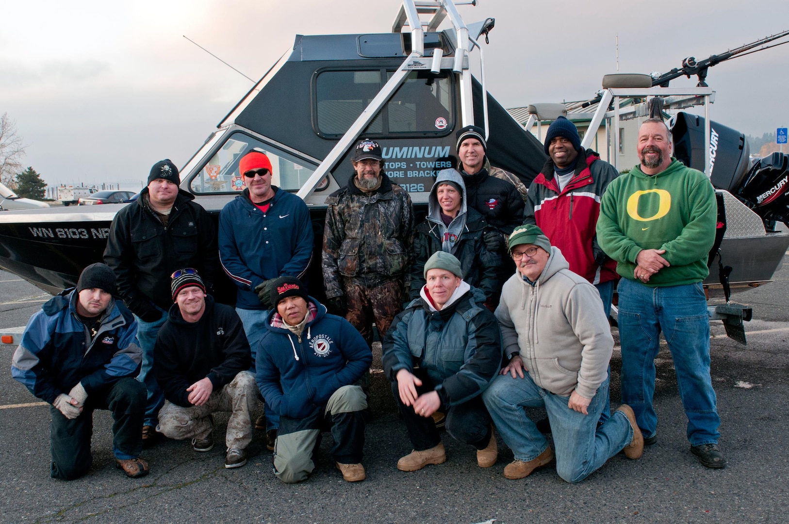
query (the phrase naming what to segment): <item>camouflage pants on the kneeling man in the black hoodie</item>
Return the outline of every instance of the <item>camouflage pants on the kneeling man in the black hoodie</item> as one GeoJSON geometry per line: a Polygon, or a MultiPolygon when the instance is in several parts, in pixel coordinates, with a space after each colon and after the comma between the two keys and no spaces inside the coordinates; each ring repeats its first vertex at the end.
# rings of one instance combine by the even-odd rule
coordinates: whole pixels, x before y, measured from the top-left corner
{"type": "Polygon", "coordinates": [[[204,439],[213,430],[210,415],[229,411],[225,444],[228,449],[245,449],[252,442],[251,417],[257,402],[255,376],[242,371],[230,384],[212,392],[202,406],[181,407],[166,400],[159,411],[156,431],[174,440],[204,439]]]}

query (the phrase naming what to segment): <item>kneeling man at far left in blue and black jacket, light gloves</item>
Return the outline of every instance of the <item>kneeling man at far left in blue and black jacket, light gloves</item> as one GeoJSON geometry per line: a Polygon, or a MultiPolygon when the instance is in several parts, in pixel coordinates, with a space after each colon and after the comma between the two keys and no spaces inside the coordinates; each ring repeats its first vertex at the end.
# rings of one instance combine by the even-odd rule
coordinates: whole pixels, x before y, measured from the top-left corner
{"type": "Polygon", "coordinates": [[[140,458],[145,386],[135,379],[142,350],[134,316],[115,293],[109,267],[84,268],[76,289],[31,317],[13,354],[13,378],[52,405],[52,478],[71,481],[90,469],[93,410],[112,412],[118,468],[129,477],[148,474],[140,458]]]}

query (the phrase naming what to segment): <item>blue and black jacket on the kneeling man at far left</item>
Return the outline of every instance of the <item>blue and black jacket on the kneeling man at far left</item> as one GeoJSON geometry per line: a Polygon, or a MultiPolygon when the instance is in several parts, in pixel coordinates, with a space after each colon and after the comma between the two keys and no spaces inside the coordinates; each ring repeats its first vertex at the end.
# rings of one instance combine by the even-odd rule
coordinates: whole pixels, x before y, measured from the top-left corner
{"type": "Polygon", "coordinates": [[[93,337],[77,316],[76,289],[50,298],[28,320],[11,361],[11,375],[50,404],[81,382],[88,395],[140,372],[137,323],[120,302],[110,300],[93,337]]]}

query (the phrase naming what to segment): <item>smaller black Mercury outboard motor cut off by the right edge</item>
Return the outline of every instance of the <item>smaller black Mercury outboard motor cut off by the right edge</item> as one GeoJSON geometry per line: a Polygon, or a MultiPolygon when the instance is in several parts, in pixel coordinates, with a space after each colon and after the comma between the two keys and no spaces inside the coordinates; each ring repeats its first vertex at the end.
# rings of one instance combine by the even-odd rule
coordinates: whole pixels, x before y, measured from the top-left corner
{"type": "Polygon", "coordinates": [[[761,216],[768,229],[789,226],[789,155],[775,152],[753,164],[738,196],[761,216]]]}

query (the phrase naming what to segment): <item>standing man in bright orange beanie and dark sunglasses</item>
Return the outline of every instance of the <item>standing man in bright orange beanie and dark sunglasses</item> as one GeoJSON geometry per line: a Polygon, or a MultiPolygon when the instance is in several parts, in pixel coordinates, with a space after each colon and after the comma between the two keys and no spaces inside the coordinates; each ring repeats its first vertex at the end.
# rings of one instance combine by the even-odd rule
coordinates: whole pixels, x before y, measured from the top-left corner
{"type": "MultiPolygon", "coordinates": [[[[271,284],[281,276],[305,279],[312,260],[312,222],[304,200],[271,184],[271,160],[252,150],[241,157],[238,170],[246,189],[219,215],[219,257],[236,283],[236,313],[252,349],[252,369],[271,309],[271,284]]],[[[266,429],[267,447],[274,450],[279,417],[266,406],[256,429],[266,429]]]]}

